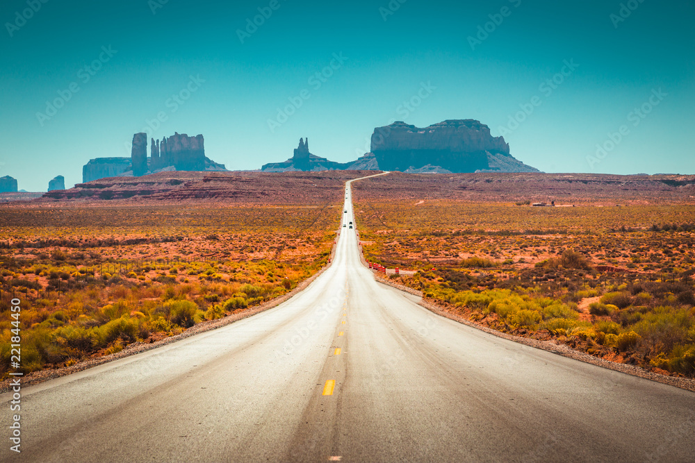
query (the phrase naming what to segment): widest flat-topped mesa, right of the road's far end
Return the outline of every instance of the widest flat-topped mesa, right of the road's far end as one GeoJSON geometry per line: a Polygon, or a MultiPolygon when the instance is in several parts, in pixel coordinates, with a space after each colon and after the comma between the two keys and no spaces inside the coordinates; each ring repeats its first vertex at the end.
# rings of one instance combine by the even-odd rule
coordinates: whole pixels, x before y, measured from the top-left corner
{"type": "Polygon", "coordinates": [[[505,139],[493,137],[488,126],[473,119],[426,128],[401,121],[378,127],[372,135],[372,153],[379,169],[389,171],[537,171],[512,158],[505,139]]]}

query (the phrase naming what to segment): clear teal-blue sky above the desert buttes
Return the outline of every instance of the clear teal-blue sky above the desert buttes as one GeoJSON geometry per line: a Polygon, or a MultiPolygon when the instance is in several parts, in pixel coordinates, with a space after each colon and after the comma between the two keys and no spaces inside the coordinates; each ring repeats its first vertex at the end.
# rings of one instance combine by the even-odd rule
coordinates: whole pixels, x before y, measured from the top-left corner
{"type": "Polygon", "coordinates": [[[20,189],[79,183],[145,128],[258,169],[300,137],[354,160],[393,120],[479,119],[548,172],[695,173],[692,0],[43,1],[0,6],[20,189]]]}

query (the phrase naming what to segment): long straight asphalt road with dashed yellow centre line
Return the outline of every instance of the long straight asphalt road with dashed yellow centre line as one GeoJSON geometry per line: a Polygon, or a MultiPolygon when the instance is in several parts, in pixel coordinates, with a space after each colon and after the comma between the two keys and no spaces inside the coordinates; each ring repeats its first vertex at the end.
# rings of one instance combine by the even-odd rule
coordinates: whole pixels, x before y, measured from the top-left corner
{"type": "Polygon", "coordinates": [[[24,389],[22,453],[3,439],[0,460],[695,460],[692,392],[437,317],[341,230],[332,267],[277,308],[24,389]]]}

